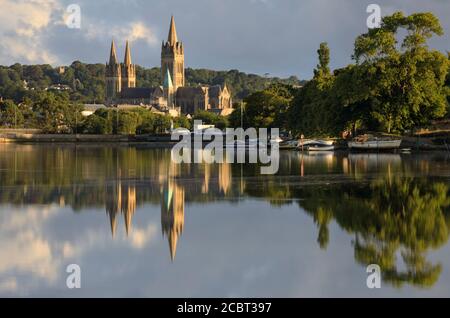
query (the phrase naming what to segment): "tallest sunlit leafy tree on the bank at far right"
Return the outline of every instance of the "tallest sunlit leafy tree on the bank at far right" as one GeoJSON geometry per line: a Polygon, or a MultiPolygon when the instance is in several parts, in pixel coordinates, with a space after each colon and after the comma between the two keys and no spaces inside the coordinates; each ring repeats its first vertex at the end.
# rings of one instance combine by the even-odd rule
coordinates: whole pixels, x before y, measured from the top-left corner
{"type": "Polygon", "coordinates": [[[346,93],[358,98],[344,106],[368,106],[369,121],[386,132],[401,132],[443,117],[450,64],[443,54],[427,47],[428,39],[442,34],[439,20],[431,13],[405,17],[397,12],[383,18],[380,28],[355,41],[355,74],[359,76],[355,82],[359,85],[347,86],[346,93]],[[406,36],[398,47],[401,30],[406,36]]]}

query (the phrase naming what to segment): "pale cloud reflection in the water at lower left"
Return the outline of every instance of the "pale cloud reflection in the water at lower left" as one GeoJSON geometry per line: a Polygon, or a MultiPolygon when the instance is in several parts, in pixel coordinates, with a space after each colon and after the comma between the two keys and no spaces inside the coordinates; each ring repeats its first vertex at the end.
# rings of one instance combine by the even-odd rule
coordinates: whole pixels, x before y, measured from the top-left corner
{"type": "Polygon", "coordinates": [[[95,226],[82,227],[74,236],[60,237],[55,224],[75,217],[66,212],[56,205],[0,209],[0,295],[26,295],[39,286],[61,286],[68,264],[83,266],[91,253],[111,246],[142,250],[154,242],[158,232],[154,222],[134,227],[129,236],[123,226],[111,241],[104,218],[100,231],[95,226]]]}

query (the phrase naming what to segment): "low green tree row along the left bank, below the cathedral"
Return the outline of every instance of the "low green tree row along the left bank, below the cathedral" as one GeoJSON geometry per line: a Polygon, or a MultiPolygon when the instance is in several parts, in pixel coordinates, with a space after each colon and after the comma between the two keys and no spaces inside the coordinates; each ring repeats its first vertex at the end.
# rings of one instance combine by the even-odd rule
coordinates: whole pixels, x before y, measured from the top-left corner
{"type": "Polygon", "coordinates": [[[26,98],[16,104],[13,100],[0,102],[0,127],[35,128],[44,133],[66,134],[166,134],[172,128],[191,129],[194,120],[202,120],[220,129],[229,126],[228,119],[207,111],[192,117],[172,118],[154,113],[144,107],[134,109],[100,108],[83,116],[84,106],[73,103],[67,92],[42,91],[34,99],[26,98]]]}

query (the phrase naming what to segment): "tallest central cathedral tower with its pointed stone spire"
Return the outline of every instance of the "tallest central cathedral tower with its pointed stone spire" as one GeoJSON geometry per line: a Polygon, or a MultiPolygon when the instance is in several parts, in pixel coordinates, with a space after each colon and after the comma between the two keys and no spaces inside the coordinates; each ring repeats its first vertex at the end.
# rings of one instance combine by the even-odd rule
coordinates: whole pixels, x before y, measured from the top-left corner
{"type": "Polygon", "coordinates": [[[161,48],[161,78],[164,80],[167,70],[173,80],[174,91],[178,87],[185,86],[184,80],[184,47],[178,41],[175,19],[172,16],[170,21],[169,36],[167,42],[162,43],[161,48]]]}

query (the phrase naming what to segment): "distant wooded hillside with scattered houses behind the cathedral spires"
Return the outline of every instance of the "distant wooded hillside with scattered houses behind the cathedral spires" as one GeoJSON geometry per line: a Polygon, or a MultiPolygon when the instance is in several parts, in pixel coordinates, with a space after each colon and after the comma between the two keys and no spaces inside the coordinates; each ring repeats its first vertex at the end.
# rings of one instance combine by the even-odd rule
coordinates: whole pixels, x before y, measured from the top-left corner
{"type": "MultiPolygon", "coordinates": [[[[159,67],[136,66],[136,77],[138,87],[158,86],[162,82],[159,67]]],[[[301,85],[295,76],[281,79],[246,74],[237,70],[212,71],[192,68],[186,69],[186,81],[188,86],[227,84],[236,101],[268,87],[271,83],[301,85]]],[[[37,92],[43,90],[64,90],[69,93],[73,102],[101,104],[105,96],[105,65],[75,61],[63,68],[21,64],[0,66],[0,96],[3,99],[20,103],[25,98],[35,99],[37,92]]]]}

